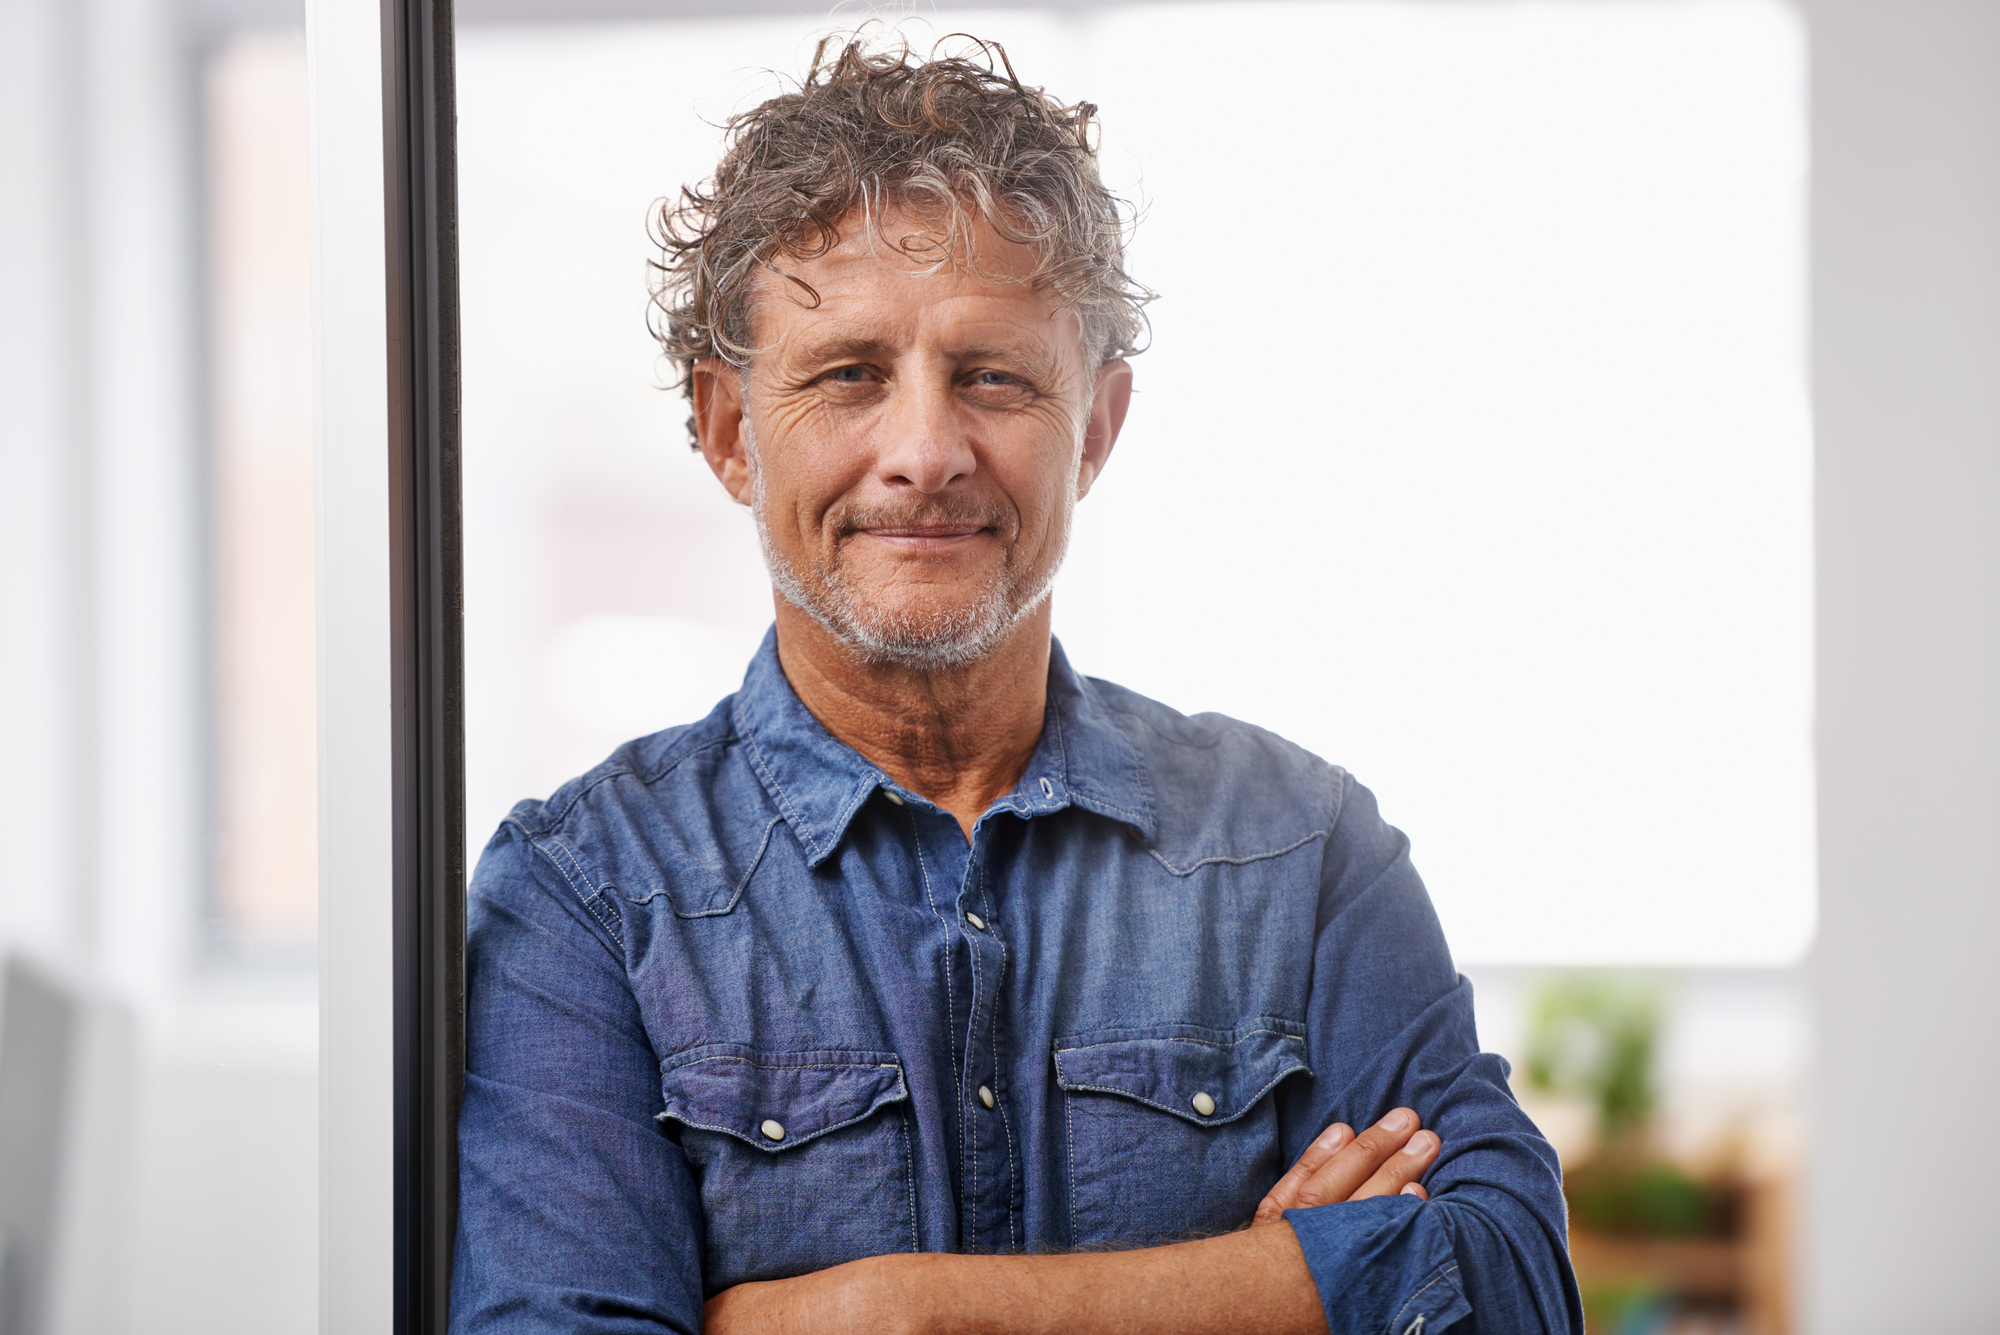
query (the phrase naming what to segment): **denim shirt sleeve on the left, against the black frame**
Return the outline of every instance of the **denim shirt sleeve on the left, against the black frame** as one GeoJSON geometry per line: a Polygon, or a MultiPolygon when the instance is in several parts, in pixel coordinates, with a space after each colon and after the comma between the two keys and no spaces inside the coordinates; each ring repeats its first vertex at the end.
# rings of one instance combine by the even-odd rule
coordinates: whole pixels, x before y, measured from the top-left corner
{"type": "Polygon", "coordinates": [[[510,821],[472,877],[450,1329],[696,1335],[700,1197],[618,911],[560,861],[510,821]]]}

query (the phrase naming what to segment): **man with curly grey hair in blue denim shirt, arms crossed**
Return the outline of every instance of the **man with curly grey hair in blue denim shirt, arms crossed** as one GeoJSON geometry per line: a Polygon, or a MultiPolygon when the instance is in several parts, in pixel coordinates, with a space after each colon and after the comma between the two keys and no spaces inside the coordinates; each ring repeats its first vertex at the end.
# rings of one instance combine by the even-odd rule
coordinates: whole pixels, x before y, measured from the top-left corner
{"type": "Polygon", "coordinates": [[[456,1329],[1582,1329],[1368,789],[1050,638],[1144,298],[1090,116],[848,44],[668,212],[776,626],[480,861],[456,1329]]]}

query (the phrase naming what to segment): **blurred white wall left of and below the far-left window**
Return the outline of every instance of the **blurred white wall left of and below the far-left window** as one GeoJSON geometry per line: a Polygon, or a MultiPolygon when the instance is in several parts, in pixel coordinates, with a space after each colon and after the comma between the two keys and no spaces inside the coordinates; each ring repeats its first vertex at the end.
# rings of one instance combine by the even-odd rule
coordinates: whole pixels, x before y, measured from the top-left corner
{"type": "Polygon", "coordinates": [[[224,977],[196,941],[200,8],[0,0],[0,951],[90,1017],[46,1147],[60,1335],[314,1317],[312,979],[224,977]]]}

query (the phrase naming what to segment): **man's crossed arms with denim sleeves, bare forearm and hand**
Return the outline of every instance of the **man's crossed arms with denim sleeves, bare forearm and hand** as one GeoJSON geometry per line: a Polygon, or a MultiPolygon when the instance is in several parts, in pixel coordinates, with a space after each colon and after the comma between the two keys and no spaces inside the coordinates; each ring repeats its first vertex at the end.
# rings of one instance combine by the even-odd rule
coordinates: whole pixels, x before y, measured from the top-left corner
{"type": "MultiPolygon", "coordinates": [[[[1356,789],[1350,807],[1364,801],[1356,789]]],[[[658,1057],[624,965],[586,905],[544,883],[524,841],[496,839],[472,899],[452,1329],[1374,1335],[1470,1317],[1508,1335],[1580,1331],[1554,1153],[1508,1097],[1500,1059],[1478,1051],[1470,985],[1450,971],[1422,887],[1400,857],[1380,871],[1380,849],[1342,857],[1366,863],[1346,875],[1364,889],[1328,913],[1324,985],[1304,1015],[1328,1079],[1268,1097],[1280,1125],[1406,1105],[1424,1109],[1428,1131],[1388,1117],[1360,1137],[1328,1127],[1254,1227],[1222,1237],[1126,1253],[884,1255],[738,1285],[704,1309],[700,1183],[658,1127],[658,1057]],[[1404,1155],[1408,1143],[1420,1151],[1404,1155]],[[1404,1195],[1422,1173],[1430,1203],[1422,1187],[1404,1195]]]]}

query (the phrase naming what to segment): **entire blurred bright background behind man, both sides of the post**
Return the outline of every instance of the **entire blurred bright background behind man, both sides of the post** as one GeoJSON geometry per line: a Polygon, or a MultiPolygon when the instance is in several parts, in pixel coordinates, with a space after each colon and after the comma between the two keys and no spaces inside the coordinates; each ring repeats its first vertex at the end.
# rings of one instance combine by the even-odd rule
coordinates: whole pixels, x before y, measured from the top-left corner
{"type": "MultiPolygon", "coordinates": [[[[474,853],[770,620],[646,228],[794,10],[460,4],[474,853]]],[[[2000,1093],[2000,6],[904,28],[1104,108],[1162,294],[1058,636],[1380,793],[1592,1329],[1984,1329],[2000,1155],[1858,1151],[2000,1093]]],[[[308,50],[0,0],[0,1335],[316,1323],[308,50]]]]}

